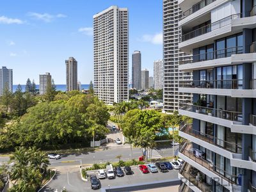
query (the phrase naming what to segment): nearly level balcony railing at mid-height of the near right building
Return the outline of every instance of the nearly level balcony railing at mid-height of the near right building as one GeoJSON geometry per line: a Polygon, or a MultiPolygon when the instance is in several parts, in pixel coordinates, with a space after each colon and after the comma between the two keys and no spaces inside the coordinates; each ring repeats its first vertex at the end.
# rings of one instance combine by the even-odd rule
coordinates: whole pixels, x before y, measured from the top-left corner
{"type": "Polygon", "coordinates": [[[217,89],[243,89],[243,79],[209,80],[209,81],[180,81],[180,88],[217,88],[217,89]]]}

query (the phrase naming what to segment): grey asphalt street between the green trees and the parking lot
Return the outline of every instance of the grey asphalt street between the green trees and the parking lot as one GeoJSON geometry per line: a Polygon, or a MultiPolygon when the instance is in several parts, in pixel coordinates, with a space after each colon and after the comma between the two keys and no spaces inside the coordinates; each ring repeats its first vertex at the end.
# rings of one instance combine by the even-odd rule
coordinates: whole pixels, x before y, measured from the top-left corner
{"type": "MultiPolygon", "coordinates": [[[[178,147],[175,146],[175,150],[178,147]]],[[[170,147],[161,147],[156,150],[161,157],[173,156],[173,150],[170,147]]],[[[116,147],[105,147],[96,149],[92,152],[86,152],[83,154],[66,154],[61,157],[61,159],[54,160],[51,159],[50,167],[67,166],[67,165],[79,165],[79,164],[93,164],[93,163],[106,163],[106,162],[116,162],[116,156],[122,155],[122,160],[127,161],[131,159],[131,149],[129,147],[124,147],[124,145],[119,145],[116,147]]],[[[138,159],[142,155],[140,148],[132,148],[132,158],[138,159]]],[[[8,162],[10,157],[0,157],[0,163],[8,162]]]]}

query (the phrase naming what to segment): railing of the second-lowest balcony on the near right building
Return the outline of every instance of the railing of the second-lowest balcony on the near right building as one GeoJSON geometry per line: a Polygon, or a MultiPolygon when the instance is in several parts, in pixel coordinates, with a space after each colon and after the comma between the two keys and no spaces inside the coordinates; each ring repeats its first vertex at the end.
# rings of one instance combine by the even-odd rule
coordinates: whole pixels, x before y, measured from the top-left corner
{"type": "Polygon", "coordinates": [[[191,149],[192,149],[192,143],[191,142],[185,143],[184,146],[180,149],[180,153],[182,153],[184,156],[189,157],[189,159],[195,161],[201,166],[204,166],[204,168],[207,168],[211,172],[214,172],[216,175],[227,180],[231,184],[237,183],[238,177],[236,175],[232,175],[232,173],[228,173],[225,170],[222,170],[220,167],[212,164],[211,162],[203,159],[202,157],[195,156],[195,154],[191,152],[191,149]]]}

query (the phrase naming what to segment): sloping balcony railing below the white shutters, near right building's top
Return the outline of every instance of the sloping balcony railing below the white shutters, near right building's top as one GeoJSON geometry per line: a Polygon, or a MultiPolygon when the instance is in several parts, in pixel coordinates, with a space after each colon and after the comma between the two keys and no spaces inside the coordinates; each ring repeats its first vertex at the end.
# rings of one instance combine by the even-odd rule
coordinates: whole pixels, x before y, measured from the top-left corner
{"type": "Polygon", "coordinates": [[[204,35],[205,33],[209,33],[216,29],[220,29],[225,26],[228,26],[229,24],[231,24],[231,20],[240,18],[240,15],[241,15],[241,13],[238,13],[235,15],[230,15],[228,17],[225,17],[224,19],[218,20],[216,22],[212,22],[211,24],[209,24],[207,26],[204,26],[202,28],[196,29],[189,33],[186,33],[185,35],[182,35],[181,41],[184,42],[191,38],[195,38],[196,36],[204,35]]]}

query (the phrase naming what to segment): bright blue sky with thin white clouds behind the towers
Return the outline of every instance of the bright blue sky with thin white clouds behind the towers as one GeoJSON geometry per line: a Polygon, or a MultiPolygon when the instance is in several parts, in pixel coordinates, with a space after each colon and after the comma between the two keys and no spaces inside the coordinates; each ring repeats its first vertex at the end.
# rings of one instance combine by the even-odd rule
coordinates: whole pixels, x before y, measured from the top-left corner
{"type": "Polygon", "coordinates": [[[163,58],[161,0],[5,0],[0,6],[1,65],[13,68],[13,84],[51,72],[65,84],[65,60],[74,56],[78,79],[93,80],[93,15],[111,5],[129,9],[131,54],[141,51],[142,68],[153,75],[153,62],[163,58]]]}

